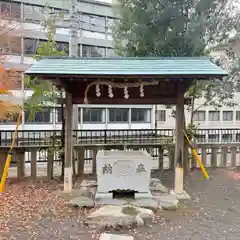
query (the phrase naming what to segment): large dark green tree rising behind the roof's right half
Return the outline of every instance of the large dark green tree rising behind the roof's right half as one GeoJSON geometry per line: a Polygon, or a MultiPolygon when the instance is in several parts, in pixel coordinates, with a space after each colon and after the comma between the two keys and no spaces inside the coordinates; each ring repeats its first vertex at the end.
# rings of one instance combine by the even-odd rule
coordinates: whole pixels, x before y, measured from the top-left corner
{"type": "MultiPolygon", "coordinates": [[[[218,51],[239,33],[240,16],[232,0],[118,0],[115,10],[120,20],[113,38],[121,56],[211,57],[212,49],[218,51]]],[[[212,60],[223,66],[220,58],[212,60]]],[[[198,98],[205,99],[202,107],[234,104],[236,67],[227,70],[230,77],[196,82],[189,89],[191,119],[198,98]]]]}

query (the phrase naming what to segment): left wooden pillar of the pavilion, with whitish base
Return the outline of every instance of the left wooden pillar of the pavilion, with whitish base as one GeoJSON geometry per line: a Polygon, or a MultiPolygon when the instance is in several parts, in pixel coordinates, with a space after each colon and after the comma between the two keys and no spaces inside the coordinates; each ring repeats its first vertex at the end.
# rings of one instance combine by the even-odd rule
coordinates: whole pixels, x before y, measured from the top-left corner
{"type": "Polygon", "coordinates": [[[66,120],[65,120],[65,157],[64,157],[64,192],[72,191],[72,158],[73,158],[73,104],[72,94],[66,92],[66,120]]]}

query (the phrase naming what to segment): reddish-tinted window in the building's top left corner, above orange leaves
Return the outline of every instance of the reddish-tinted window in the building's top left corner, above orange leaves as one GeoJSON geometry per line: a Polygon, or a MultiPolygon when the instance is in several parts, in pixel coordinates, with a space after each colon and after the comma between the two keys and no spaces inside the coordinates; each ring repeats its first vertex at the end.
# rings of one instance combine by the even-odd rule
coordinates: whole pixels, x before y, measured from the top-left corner
{"type": "Polygon", "coordinates": [[[21,3],[0,1],[0,15],[4,18],[21,18],[21,3]]]}

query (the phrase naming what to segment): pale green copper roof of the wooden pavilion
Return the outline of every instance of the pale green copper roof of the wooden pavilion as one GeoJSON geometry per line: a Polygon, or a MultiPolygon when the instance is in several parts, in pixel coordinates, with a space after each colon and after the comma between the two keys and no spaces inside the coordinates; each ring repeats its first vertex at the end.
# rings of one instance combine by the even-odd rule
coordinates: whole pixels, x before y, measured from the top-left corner
{"type": "Polygon", "coordinates": [[[44,58],[27,75],[226,76],[208,58],[44,58]]]}

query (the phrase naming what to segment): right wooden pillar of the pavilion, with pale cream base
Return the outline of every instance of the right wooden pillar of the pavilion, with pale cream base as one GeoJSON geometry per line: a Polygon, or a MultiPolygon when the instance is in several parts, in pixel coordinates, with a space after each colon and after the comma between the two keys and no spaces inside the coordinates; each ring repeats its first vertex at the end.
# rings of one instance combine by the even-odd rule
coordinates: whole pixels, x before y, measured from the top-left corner
{"type": "MultiPolygon", "coordinates": [[[[181,88],[180,88],[181,90],[181,88]]],[[[183,192],[183,161],[184,161],[184,92],[178,93],[176,105],[176,144],[175,144],[175,184],[176,193],[183,192]]]]}

